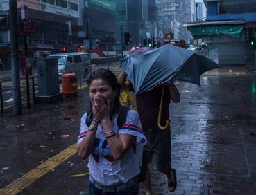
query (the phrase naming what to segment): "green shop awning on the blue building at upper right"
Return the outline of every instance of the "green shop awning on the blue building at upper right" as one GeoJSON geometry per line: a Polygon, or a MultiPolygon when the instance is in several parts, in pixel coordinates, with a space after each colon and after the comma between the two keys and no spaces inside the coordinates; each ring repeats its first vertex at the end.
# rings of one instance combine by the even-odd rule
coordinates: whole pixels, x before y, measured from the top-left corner
{"type": "Polygon", "coordinates": [[[194,39],[200,39],[209,35],[224,34],[232,37],[239,38],[244,25],[232,25],[232,26],[189,26],[194,39]]]}

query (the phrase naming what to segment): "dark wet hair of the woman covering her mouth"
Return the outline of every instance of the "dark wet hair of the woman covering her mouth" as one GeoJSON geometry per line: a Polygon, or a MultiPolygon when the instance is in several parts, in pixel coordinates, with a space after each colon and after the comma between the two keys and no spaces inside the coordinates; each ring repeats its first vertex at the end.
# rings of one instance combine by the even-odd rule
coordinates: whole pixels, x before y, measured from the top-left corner
{"type": "Polygon", "coordinates": [[[114,75],[114,73],[112,73],[112,71],[108,69],[99,68],[98,70],[94,71],[92,75],[89,77],[89,79],[87,80],[87,85],[90,86],[93,80],[98,79],[104,80],[109,86],[112,87],[114,91],[117,91],[117,96],[115,97],[114,104],[115,107],[118,107],[121,86],[117,82],[116,75],[114,75]]]}

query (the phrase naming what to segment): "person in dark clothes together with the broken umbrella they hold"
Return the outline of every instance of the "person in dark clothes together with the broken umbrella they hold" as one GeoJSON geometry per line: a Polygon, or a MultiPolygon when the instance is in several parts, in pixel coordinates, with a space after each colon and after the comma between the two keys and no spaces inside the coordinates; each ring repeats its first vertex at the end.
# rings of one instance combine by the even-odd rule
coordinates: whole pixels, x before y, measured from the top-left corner
{"type": "MultiPolygon", "coordinates": [[[[142,121],[142,128],[144,129],[144,133],[147,132],[145,129],[149,132],[146,133],[146,137],[148,138],[148,142],[151,143],[151,147],[144,147],[145,154],[143,160],[143,167],[147,168],[147,161],[150,161],[152,156],[151,151],[154,151],[155,154],[160,154],[161,151],[169,149],[169,145],[171,147],[171,133],[169,133],[170,131],[164,130],[169,129],[168,106],[171,100],[173,102],[180,101],[178,89],[173,82],[180,80],[200,86],[200,75],[212,69],[221,68],[221,66],[203,55],[171,44],[153,50],[146,48],[144,52],[143,50],[144,48],[139,48],[139,50],[134,50],[133,53],[126,56],[123,60],[122,74],[127,74],[133,85],[135,94],[137,94],[137,106],[142,121]],[[171,95],[167,90],[168,85],[171,95]],[[160,111],[157,115],[159,102],[160,111]],[[162,126],[163,120],[167,120],[164,126],[162,126]],[[158,131],[155,131],[155,129],[158,129],[158,131]],[[159,136],[160,138],[157,138],[157,135],[153,134],[155,132],[161,135],[159,136]],[[167,134],[164,135],[163,133],[167,134]],[[167,143],[165,140],[167,140],[167,143]],[[157,145],[157,143],[160,144],[157,145]],[[145,158],[145,156],[149,157],[145,158]]],[[[163,159],[166,158],[162,162],[168,161],[171,151],[167,151],[166,154],[169,155],[160,155],[163,159]]],[[[158,159],[157,162],[160,162],[160,160],[158,159]]],[[[175,169],[171,169],[169,163],[162,162],[157,163],[157,169],[162,169],[162,172],[167,175],[169,191],[173,192],[177,185],[176,171],[175,169]]],[[[144,169],[142,169],[143,172],[145,172],[144,169]]],[[[146,187],[146,194],[151,194],[150,180],[147,180],[150,178],[150,173],[148,170],[146,173],[144,186],[146,187]]]]}

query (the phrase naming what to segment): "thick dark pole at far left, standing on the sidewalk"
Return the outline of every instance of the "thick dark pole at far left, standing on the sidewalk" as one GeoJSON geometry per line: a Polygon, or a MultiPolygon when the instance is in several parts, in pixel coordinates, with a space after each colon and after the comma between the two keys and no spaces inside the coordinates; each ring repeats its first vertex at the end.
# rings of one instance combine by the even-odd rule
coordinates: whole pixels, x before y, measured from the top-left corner
{"type": "Polygon", "coordinates": [[[19,80],[18,60],[18,29],[17,29],[17,1],[9,1],[10,9],[10,41],[11,41],[11,66],[12,66],[12,91],[14,115],[22,114],[22,98],[19,80]]]}

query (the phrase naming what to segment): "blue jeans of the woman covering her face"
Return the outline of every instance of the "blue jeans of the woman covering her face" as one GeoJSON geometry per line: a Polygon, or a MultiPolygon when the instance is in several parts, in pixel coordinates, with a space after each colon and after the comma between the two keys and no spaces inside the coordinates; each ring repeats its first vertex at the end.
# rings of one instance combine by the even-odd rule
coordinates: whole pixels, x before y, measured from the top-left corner
{"type": "Polygon", "coordinates": [[[113,187],[97,185],[94,180],[89,180],[89,195],[137,195],[139,194],[139,176],[128,182],[113,187]]]}

